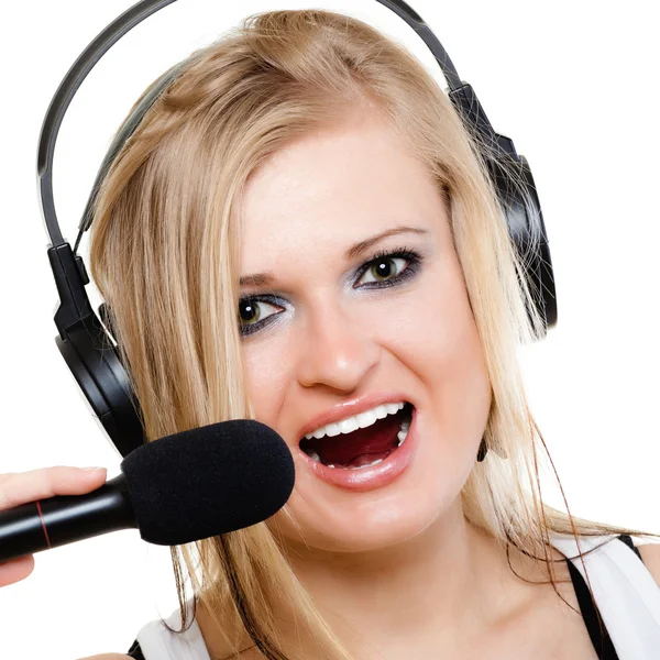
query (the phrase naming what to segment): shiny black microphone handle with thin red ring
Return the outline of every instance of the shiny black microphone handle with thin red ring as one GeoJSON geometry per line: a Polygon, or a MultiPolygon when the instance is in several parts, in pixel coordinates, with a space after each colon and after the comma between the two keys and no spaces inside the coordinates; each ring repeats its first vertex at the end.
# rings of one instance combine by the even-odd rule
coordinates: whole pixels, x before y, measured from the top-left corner
{"type": "Polygon", "coordinates": [[[0,512],[0,561],[138,527],[120,474],[84,495],[56,495],[0,512]]]}

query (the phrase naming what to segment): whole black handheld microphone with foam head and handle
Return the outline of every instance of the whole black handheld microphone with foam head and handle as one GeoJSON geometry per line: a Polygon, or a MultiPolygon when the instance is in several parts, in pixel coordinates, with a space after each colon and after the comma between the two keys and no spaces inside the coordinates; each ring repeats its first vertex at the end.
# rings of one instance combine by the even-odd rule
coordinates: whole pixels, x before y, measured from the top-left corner
{"type": "Polygon", "coordinates": [[[284,440],[235,419],[139,447],[121,474],[85,495],[57,495],[0,512],[0,561],[119,529],[178,546],[261,522],[294,488],[284,440]]]}

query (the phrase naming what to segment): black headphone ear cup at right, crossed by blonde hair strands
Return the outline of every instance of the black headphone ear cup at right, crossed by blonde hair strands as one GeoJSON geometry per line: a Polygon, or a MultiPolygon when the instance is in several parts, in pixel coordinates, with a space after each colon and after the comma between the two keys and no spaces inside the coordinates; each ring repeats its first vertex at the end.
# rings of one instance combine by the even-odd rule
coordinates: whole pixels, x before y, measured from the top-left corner
{"type": "Polygon", "coordinates": [[[529,163],[525,156],[518,158],[491,158],[486,164],[535,306],[547,330],[557,323],[550,245],[529,163]]]}

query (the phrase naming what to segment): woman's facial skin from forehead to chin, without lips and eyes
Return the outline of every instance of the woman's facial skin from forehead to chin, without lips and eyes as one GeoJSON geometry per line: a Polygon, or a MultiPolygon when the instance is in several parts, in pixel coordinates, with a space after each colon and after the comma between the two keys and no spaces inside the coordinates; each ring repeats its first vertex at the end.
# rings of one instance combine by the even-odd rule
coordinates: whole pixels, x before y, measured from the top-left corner
{"type": "MultiPolygon", "coordinates": [[[[475,461],[491,406],[481,342],[437,185],[382,127],[315,134],[275,154],[248,184],[242,205],[241,274],[272,273],[266,287],[286,301],[262,309],[276,322],[243,341],[246,387],[256,418],[274,428],[296,460],[296,488],[277,527],[305,565],[328,552],[373,562],[383,549],[440,522],[457,528],[459,493],[475,461]],[[387,230],[346,260],[351,246],[387,230]],[[356,282],[376,251],[400,246],[424,256],[399,286],[356,282]],[[274,312],[276,312],[274,315],[274,312]],[[421,442],[414,464],[387,487],[349,492],[299,461],[301,427],[320,413],[372,393],[400,393],[417,410],[421,442]]],[[[405,260],[391,264],[397,271],[405,260]]],[[[432,534],[429,530],[429,534],[432,534]]]]}

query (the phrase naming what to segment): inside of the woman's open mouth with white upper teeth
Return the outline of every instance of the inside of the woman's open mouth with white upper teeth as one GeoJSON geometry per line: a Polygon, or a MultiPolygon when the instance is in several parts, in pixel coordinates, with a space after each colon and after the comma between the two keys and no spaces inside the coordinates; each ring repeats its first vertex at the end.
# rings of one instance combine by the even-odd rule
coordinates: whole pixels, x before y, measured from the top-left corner
{"type": "Polygon", "coordinates": [[[300,440],[300,449],[328,468],[360,470],[377,465],[405,442],[411,417],[411,404],[383,404],[308,433],[300,440]],[[355,428],[358,425],[362,428],[355,428]]]}

